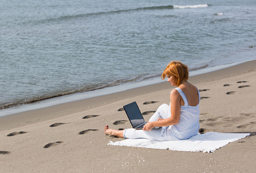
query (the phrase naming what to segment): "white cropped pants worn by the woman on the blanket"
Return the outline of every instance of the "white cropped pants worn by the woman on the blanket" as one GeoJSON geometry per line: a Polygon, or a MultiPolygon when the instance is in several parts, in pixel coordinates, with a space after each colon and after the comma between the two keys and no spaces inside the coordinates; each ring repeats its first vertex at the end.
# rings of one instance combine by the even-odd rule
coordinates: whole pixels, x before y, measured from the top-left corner
{"type": "MultiPolygon", "coordinates": [[[[157,111],[150,118],[150,122],[157,121],[158,118],[169,118],[170,114],[168,114],[169,105],[162,104],[158,107],[157,111]]],[[[166,130],[167,127],[160,127],[159,129],[152,129],[150,131],[144,130],[135,130],[135,129],[125,129],[124,130],[124,138],[128,139],[136,139],[136,138],[146,138],[150,140],[157,141],[176,141],[178,140],[170,130],[166,130]]],[[[169,128],[168,128],[169,129],[169,128]]]]}

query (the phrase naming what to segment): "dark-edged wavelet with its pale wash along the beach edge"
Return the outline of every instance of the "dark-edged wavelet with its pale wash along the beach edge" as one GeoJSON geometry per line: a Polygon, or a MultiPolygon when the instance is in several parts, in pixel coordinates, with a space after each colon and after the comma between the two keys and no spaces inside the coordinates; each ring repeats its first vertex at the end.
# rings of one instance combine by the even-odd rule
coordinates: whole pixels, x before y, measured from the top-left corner
{"type": "MultiPolygon", "coordinates": [[[[233,62],[226,65],[218,65],[213,67],[209,67],[209,65],[205,65],[198,68],[192,68],[191,71],[189,71],[189,73],[192,74],[192,76],[195,76],[202,73],[210,73],[219,69],[224,69],[224,68],[238,65],[244,62],[247,62],[247,61],[233,62]]],[[[106,86],[102,86],[102,87],[99,86],[99,88],[91,88],[91,89],[88,89],[87,91],[83,91],[83,90],[80,91],[79,89],[77,89],[76,91],[55,93],[53,95],[47,95],[47,96],[37,96],[37,97],[34,97],[34,99],[28,98],[28,99],[20,99],[20,101],[14,101],[14,102],[11,101],[12,103],[10,104],[0,105],[0,116],[16,114],[17,112],[36,110],[39,108],[49,107],[56,104],[68,103],[72,101],[88,99],[95,96],[107,95],[109,93],[126,91],[132,88],[139,88],[142,86],[158,84],[162,82],[162,80],[159,79],[159,76],[161,76],[161,74],[158,74],[158,75],[155,74],[154,76],[145,77],[145,78],[142,78],[142,80],[140,79],[140,77],[138,77],[138,79],[140,79],[138,81],[136,79],[121,81],[117,85],[106,84],[106,86]]]]}

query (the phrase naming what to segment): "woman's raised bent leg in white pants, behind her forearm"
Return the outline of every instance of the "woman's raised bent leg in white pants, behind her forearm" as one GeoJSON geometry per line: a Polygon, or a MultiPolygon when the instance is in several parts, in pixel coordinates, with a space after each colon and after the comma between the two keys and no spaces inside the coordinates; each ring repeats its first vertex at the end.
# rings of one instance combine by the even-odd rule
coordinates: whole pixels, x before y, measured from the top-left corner
{"type": "Polygon", "coordinates": [[[155,111],[154,115],[151,116],[149,122],[157,121],[158,118],[169,118],[170,117],[170,107],[168,104],[162,104],[155,111]]]}

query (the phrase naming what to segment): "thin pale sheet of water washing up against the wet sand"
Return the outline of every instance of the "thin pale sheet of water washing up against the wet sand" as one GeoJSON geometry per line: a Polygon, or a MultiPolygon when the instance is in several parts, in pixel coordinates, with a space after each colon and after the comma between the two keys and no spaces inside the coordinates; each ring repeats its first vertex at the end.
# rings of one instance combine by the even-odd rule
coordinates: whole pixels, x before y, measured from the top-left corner
{"type": "MultiPolygon", "coordinates": [[[[250,60],[250,61],[252,61],[252,60],[250,60]]],[[[196,70],[193,69],[193,70],[189,71],[189,73],[190,73],[190,77],[197,76],[199,74],[211,73],[211,72],[214,72],[214,71],[217,71],[220,69],[225,69],[225,68],[239,65],[239,64],[245,63],[245,62],[249,62],[249,61],[233,62],[233,63],[229,63],[226,65],[218,65],[218,66],[207,67],[207,68],[202,67],[202,68],[199,68],[196,70]]],[[[123,92],[123,91],[127,91],[129,89],[140,88],[143,86],[160,84],[163,81],[161,80],[161,78],[159,76],[145,78],[142,81],[139,81],[139,82],[135,81],[134,83],[129,82],[127,84],[124,83],[124,84],[120,84],[120,85],[116,85],[116,86],[109,86],[109,87],[95,89],[95,90],[87,91],[87,92],[75,92],[75,93],[64,94],[64,95],[59,95],[59,96],[51,96],[47,99],[31,101],[31,103],[24,103],[24,104],[20,104],[20,105],[17,104],[16,106],[1,109],[0,117],[6,116],[6,115],[18,114],[20,112],[38,110],[40,108],[56,106],[58,104],[64,104],[64,103],[70,103],[73,101],[90,99],[91,97],[98,97],[98,96],[103,96],[103,95],[109,95],[112,93],[123,92]]]]}

